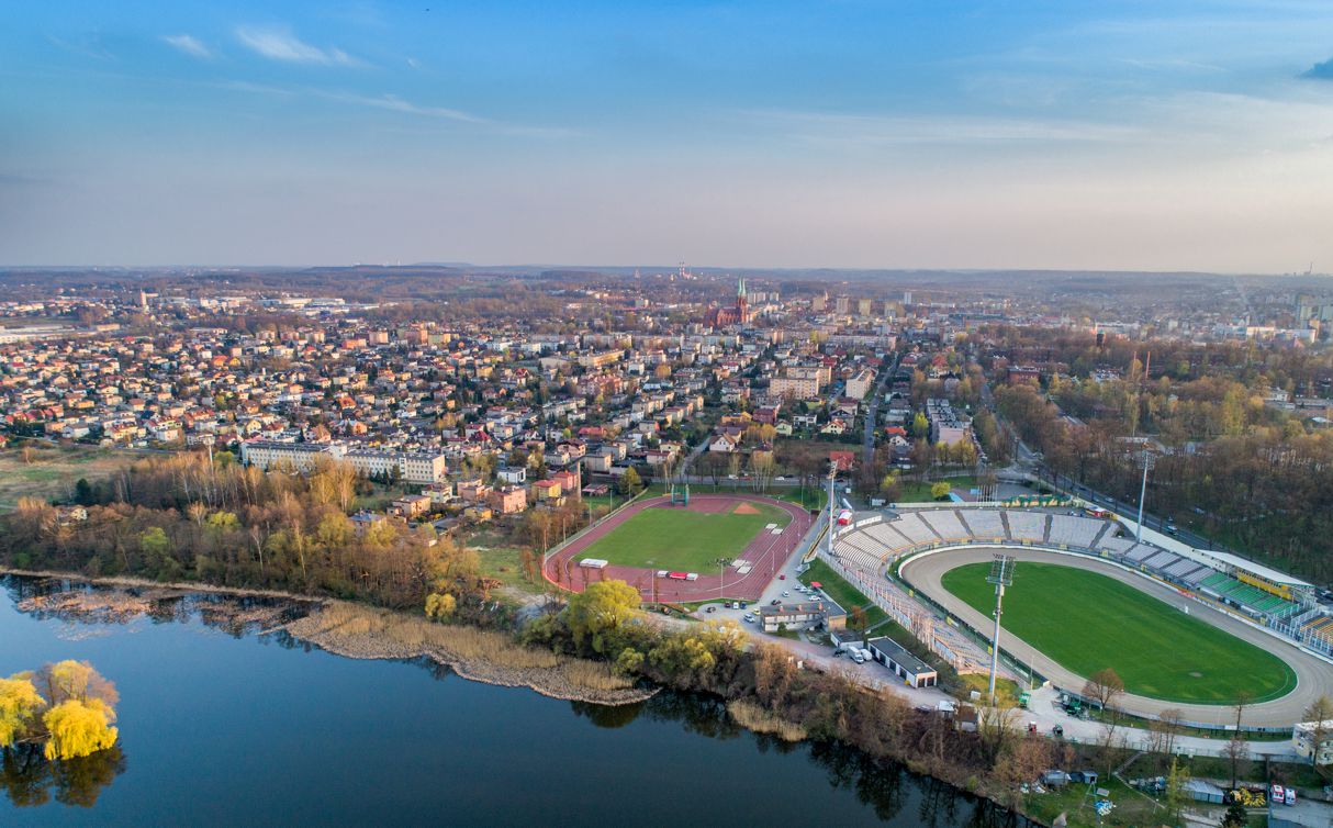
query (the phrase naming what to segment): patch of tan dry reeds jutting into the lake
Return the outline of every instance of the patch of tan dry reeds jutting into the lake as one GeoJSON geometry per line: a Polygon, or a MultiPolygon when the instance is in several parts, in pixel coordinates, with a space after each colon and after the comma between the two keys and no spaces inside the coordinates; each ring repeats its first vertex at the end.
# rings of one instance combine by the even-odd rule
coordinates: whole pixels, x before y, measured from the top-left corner
{"type": "Polygon", "coordinates": [[[460,675],[508,687],[531,687],[561,699],[637,701],[644,692],[607,664],[524,647],[503,632],[437,624],[360,604],[331,601],[288,625],[288,632],[356,659],[415,659],[448,664],[460,675]]]}

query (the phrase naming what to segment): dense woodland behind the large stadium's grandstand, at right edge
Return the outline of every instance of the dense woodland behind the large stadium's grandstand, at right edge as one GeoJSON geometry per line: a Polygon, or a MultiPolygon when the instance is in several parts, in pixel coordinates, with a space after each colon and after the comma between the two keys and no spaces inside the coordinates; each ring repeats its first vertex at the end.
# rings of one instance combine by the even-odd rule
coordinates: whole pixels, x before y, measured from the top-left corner
{"type": "MultiPolygon", "coordinates": [[[[1333,581],[1333,433],[1273,421],[1261,403],[1237,399],[1230,383],[1184,385],[1166,403],[1174,413],[1153,412],[1149,421],[1166,436],[1165,417],[1186,417],[1197,440],[1166,444],[1172,451],[1149,476],[1149,511],[1302,577],[1333,581]]],[[[1141,468],[1128,440],[1136,420],[1125,408],[1094,409],[1084,424],[1073,424],[1030,388],[997,389],[996,403],[1022,440],[1045,453],[1052,471],[1117,497],[1137,497],[1141,468]]]]}

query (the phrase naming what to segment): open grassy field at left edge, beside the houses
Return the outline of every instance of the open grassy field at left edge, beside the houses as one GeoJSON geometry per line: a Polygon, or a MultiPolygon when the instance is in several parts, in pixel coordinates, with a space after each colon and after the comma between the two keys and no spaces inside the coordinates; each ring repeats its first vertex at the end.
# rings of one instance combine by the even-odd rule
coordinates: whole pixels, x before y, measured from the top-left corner
{"type": "Polygon", "coordinates": [[[40,441],[5,449],[0,452],[0,508],[12,509],[20,497],[69,500],[80,477],[96,483],[137,459],[133,453],[109,448],[40,441]]]}

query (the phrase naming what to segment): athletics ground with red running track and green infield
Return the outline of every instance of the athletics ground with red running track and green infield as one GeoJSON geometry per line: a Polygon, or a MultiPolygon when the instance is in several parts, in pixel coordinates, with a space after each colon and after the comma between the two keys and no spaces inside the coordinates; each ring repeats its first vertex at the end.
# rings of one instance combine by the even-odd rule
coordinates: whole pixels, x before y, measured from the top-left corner
{"type": "Polygon", "coordinates": [[[758,495],[664,495],[612,513],[547,556],[557,587],[636,587],[645,601],[756,600],[809,532],[804,508],[758,495]]]}

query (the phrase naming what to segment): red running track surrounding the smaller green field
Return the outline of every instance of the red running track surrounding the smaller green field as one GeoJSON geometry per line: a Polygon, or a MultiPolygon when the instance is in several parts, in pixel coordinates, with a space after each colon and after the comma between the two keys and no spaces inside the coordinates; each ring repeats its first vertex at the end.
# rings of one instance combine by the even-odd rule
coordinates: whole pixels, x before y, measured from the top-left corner
{"type": "Polygon", "coordinates": [[[552,555],[551,560],[548,560],[544,567],[544,575],[552,584],[573,592],[583,592],[587,584],[599,580],[623,580],[627,584],[636,587],[645,601],[656,599],[657,601],[684,603],[718,597],[754,601],[764,593],[764,587],[766,587],[768,583],[777,575],[782,561],[785,561],[788,556],[796,551],[796,547],[800,545],[801,539],[805,537],[805,533],[809,532],[813,523],[814,517],[801,507],[793,503],[774,500],[772,497],[761,497],[758,495],[690,495],[689,507],[672,507],[670,497],[665,495],[660,497],[649,497],[621,509],[616,515],[589,529],[584,536],[572,541],[560,552],[552,555]],[[665,577],[657,577],[656,569],[640,569],[639,567],[617,565],[611,565],[605,569],[589,569],[587,567],[579,567],[577,564],[575,564],[569,575],[565,572],[565,561],[583,555],[584,549],[597,543],[600,539],[605,537],[608,532],[644,509],[652,509],[665,504],[665,508],[688,508],[692,512],[716,513],[726,512],[742,503],[762,503],[777,507],[786,512],[792,519],[782,528],[781,535],[761,531],[753,540],[750,540],[749,545],[746,545],[745,551],[740,555],[740,557],[749,561],[753,567],[745,575],[736,575],[736,569],[728,567],[724,576],[718,576],[716,572],[700,572],[698,580],[696,581],[674,581],[665,577]]]}

